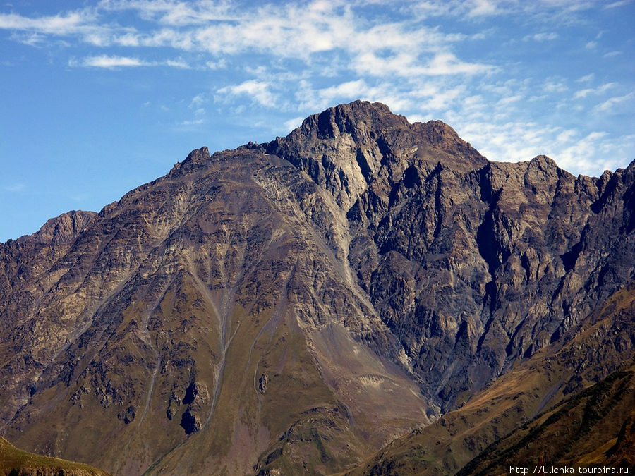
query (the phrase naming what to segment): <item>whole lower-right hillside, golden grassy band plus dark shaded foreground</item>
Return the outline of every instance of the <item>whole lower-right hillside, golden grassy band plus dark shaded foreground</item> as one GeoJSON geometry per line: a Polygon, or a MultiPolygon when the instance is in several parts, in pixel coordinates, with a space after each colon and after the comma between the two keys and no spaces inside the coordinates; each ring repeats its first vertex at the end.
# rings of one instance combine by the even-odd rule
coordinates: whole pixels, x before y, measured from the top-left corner
{"type": "Polygon", "coordinates": [[[350,474],[455,474],[459,470],[463,474],[498,474],[498,465],[509,468],[531,462],[533,468],[540,456],[545,464],[583,461],[583,456],[609,441],[615,446],[616,459],[606,458],[605,462],[619,463],[623,450],[618,448],[628,448],[631,441],[627,429],[634,398],[630,390],[634,317],[635,284],[631,283],[560,341],[492,382],[461,408],[393,441],[350,474]],[[606,378],[614,370],[619,372],[606,378]],[[552,407],[555,410],[549,410],[552,407]],[[545,432],[540,425],[555,414],[558,419],[551,422],[555,420],[557,425],[547,426],[545,432]],[[540,417],[533,420],[537,415],[540,417]],[[566,432],[561,431],[562,417],[566,432]],[[619,445],[613,441],[618,432],[623,433],[619,445]],[[531,439],[514,446],[527,434],[531,439]],[[464,467],[480,453],[478,460],[464,467]],[[493,462],[492,456],[497,458],[493,462]],[[490,463],[495,464],[488,467],[490,463]]]}

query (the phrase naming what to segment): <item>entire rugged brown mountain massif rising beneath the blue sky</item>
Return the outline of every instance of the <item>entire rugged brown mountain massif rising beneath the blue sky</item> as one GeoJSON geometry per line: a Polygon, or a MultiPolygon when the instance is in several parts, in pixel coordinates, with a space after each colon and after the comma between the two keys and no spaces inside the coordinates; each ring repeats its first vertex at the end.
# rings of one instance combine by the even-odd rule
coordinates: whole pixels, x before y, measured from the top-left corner
{"type": "MultiPolygon", "coordinates": [[[[0,434],[114,475],[457,472],[619,396],[634,281],[635,162],[492,162],[342,104],[0,243],[0,434]]],[[[627,432],[604,415],[567,455],[627,432]]]]}

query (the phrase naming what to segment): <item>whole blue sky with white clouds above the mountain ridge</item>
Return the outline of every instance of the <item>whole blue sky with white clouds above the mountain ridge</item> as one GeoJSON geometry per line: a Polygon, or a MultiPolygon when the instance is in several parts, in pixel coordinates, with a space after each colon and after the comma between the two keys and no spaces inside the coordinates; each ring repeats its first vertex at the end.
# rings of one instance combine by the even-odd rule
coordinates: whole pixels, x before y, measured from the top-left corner
{"type": "Polygon", "coordinates": [[[634,43],[632,0],[0,0],[0,241],[354,99],[598,176],[635,159],[634,43]]]}

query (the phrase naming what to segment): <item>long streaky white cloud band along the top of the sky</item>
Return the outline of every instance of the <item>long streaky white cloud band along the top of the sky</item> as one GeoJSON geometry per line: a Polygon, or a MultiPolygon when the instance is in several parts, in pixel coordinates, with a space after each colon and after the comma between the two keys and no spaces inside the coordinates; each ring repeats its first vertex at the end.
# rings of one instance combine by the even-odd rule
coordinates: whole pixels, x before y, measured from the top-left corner
{"type": "MultiPolygon", "coordinates": [[[[488,1],[477,1],[473,11],[480,12],[479,15],[492,13],[492,5],[488,1]]],[[[31,44],[42,42],[42,35],[52,35],[76,37],[80,42],[97,47],[204,51],[218,58],[207,61],[210,68],[223,68],[224,56],[246,52],[300,59],[312,65],[315,55],[341,51],[348,56],[343,64],[349,64],[349,69],[374,75],[455,75],[492,69],[491,65],[461,60],[452,51],[451,45],[467,41],[468,35],[443,33],[437,28],[413,25],[411,21],[368,25],[356,17],[353,6],[339,2],[263,4],[240,13],[236,13],[235,8],[229,2],[103,0],[97,8],[58,16],[3,15],[0,28],[30,33],[32,36],[25,37],[23,42],[31,44]],[[135,11],[141,18],[155,22],[157,28],[140,31],[100,18],[104,12],[118,11],[135,11]]],[[[483,38],[480,33],[477,36],[483,38]]],[[[86,66],[115,63],[106,61],[107,55],[94,57],[102,61],[87,60],[86,66]]],[[[171,61],[152,63],[153,66],[161,64],[185,66],[171,61]]],[[[148,63],[138,59],[104,67],[114,66],[148,66],[148,63]]]]}

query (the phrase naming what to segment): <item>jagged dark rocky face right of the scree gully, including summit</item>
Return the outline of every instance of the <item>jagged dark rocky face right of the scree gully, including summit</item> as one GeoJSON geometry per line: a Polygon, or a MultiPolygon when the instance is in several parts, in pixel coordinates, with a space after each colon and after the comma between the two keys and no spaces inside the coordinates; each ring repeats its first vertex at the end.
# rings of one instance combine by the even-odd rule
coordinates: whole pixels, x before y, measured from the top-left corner
{"type": "Polygon", "coordinates": [[[488,162],[440,121],[360,102],[267,151],[346,212],[358,283],[443,410],[635,276],[635,164],[575,178],[544,156],[488,162]]]}

